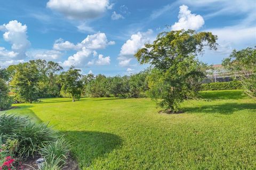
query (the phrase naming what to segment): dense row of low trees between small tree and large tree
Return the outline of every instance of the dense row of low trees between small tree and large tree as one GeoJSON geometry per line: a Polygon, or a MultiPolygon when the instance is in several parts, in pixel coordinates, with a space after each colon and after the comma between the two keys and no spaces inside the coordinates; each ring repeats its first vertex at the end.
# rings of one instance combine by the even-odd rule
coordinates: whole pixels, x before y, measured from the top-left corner
{"type": "Polygon", "coordinates": [[[148,90],[146,80],[148,74],[149,70],[124,77],[88,74],[83,77],[83,93],[89,97],[142,97],[145,96],[145,91],[148,90]]]}

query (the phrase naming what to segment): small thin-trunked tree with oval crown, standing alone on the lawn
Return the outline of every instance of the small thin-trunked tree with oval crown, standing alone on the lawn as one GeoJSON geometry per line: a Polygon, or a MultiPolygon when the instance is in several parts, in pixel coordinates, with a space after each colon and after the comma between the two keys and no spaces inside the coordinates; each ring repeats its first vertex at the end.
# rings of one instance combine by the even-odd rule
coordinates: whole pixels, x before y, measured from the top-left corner
{"type": "Polygon", "coordinates": [[[70,67],[68,71],[62,72],[59,76],[61,92],[70,95],[73,102],[81,97],[83,81],[80,72],[81,70],[70,67]]]}

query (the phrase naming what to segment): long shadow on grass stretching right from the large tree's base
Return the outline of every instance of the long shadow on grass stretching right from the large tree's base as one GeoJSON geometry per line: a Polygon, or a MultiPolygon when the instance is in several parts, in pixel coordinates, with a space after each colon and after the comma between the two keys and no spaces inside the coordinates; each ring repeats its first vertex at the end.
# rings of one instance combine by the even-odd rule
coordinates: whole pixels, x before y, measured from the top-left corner
{"type": "Polygon", "coordinates": [[[186,113],[233,114],[236,111],[242,111],[245,109],[254,110],[256,114],[256,104],[253,103],[224,103],[220,105],[206,105],[202,107],[183,107],[182,111],[186,113]]]}

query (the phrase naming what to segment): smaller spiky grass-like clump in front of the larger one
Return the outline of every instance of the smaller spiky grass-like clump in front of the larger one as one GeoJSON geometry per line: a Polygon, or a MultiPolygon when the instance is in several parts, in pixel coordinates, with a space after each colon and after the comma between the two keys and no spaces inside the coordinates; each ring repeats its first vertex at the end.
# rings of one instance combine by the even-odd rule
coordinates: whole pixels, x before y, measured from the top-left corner
{"type": "MultiPolygon", "coordinates": [[[[63,136],[54,142],[45,143],[39,150],[40,155],[44,157],[46,162],[51,162],[51,159],[60,159],[60,166],[65,164],[69,153],[70,142],[63,136]],[[54,157],[53,157],[54,156],[54,157]]],[[[56,161],[55,160],[55,161],[56,161]]]]}

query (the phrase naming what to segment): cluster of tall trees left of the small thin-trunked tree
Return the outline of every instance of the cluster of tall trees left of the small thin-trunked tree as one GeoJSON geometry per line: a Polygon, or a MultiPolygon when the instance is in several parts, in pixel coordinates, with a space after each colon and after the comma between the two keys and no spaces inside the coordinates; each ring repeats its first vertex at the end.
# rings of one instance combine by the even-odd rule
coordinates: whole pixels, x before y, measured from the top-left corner
{"type": "Polygon", "coordinates": [[[15,94],[15,100],[32,103],[38,98],[60,95],[57,73],[62,67],[58,63],[32,60],[11,65],[7,70],[10,72],[10,86],[15,94]]]}

